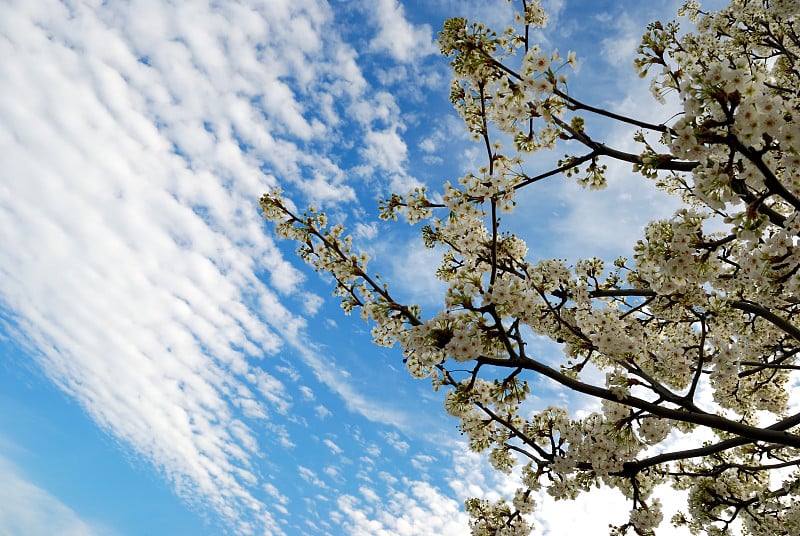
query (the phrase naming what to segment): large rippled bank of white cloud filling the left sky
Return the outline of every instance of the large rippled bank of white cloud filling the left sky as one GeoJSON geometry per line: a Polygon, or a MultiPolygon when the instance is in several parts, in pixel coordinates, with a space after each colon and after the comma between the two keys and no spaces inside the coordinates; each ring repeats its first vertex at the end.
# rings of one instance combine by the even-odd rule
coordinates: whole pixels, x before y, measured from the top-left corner
{"type": "MultiPolygon", "coordinates": [[[[0,305],[53,382],[237,533],[283,533],[254,423],[311,393],[274,365],[287,342],[318,364],[285,305],[297,295],[311,313],[318,299],[256,200],[279,184],[352,200],[331,147],[355,103],[386,100],[332,18],[313,0],[0,8],[0,305]]],[[[392,121],[348,128],[374,140],[392,121]]],[[[318,380],[368,417],[404,419],[340,376],[318,380]]]]}

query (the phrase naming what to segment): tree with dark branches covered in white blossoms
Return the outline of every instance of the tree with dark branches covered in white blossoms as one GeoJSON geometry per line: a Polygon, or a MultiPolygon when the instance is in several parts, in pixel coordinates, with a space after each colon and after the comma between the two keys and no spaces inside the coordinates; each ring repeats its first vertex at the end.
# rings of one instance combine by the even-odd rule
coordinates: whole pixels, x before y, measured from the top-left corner
{"type": "Polygon", "coordinates": [[[611,113],[568,90],[563,71],[574,56],[530,42],[546,21],[538,1],[522,0],[517,26],[502,34],[445,23],[451,100],[486,164],[439,195],[417,189],[381,203],[386,219],[423,222],[426,245],[443,252],[436,275],[448,290],[435,316],[398,302],[323,213],[300,214],[280,192],[261,199],[277,233],[333,277],[345,311],[373,324],[374,342],[399,344],[413,376],[446,389],[445,408],[471,448],[521,475],[510,502],[466,501],[473,534],[525,534],[535,492],[575,499],[600,483],[631,503],[615,534],[653,533],[663,518],[653,490],[663,483],[687,491],[672,522],[694,533],[800,534],[800,413],[789,404],[800,369],[798,3],[732,0],[707,13],[689,1],[679,14],[693,32],[652,23],[636,60],[657,99],[672,92],[682,104],[667,123],[611,113]],[[638,129],[640,152],[595,139],[588,115],[638,129]],[[528,155],[559,140],[582,152],[526,174],[528,155]],[[553,175],[602,188],[608,160],[631,163],[682,208],[647,225],[632,259],[526,260],[499,213],[553,175]],[[562,345],[563,360],[532,355],[533,334],[562,345]],[[526,412],[537,375],[601,409],[583,418],[561,407],[526,412]],[[704,440],[677,450],[675,434],[704,440]]]}

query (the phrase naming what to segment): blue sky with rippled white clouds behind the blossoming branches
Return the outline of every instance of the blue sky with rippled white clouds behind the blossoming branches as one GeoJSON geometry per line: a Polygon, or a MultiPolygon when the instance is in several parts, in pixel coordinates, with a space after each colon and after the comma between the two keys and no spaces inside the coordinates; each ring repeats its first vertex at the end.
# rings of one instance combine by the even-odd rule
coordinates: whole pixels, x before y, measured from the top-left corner
{"type": "MultiPolygon", "coordinates": [[[[631,61],[679,2],[545,4],[537,38],[577,51],[577,96],[671,115],[631,61]]],[[[417,230],[377,223],[377,199],[480,165],[434,39],[446,17],[502,28],[508,14],[484,0],[3,2],[0,534],[454,535],[467,496],[513,493],[257,210],[276,186],[324,207],[398,295],[435,310],[435,257],[417,230]]],[[[625,254],[670,212],[611,171],[599,194],[559,178],[525,194],[513,221],[532,256],[625,254]]],[[[534,385],[542,407],[589,409],[534,385]]],[[[540,503],[538,534],[628,509],[602,491],[540,503]]]]}

